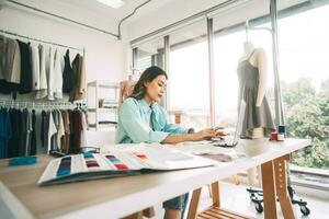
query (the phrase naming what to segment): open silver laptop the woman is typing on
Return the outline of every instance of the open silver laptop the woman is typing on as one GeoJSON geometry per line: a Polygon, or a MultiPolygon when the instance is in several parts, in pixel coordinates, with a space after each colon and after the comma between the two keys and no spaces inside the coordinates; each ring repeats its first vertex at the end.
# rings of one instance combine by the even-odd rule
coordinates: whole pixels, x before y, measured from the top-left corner
{"type": "Polygon", "coordinates": [[[245,118],[245,112],[246,112],[246,102],[241,100],[240,104],[240,111],[238,115],[238,120],[236,125],[236,131],[234,135],[234,138],[225,138],[220,140],[213,140],[212,145],[215,147],[223,147],[223,148],[232,148],[238,145],[238,141],[240,139],[240,135],[242,131],[242,124],[243,124],[243,118],[245,118]]]}

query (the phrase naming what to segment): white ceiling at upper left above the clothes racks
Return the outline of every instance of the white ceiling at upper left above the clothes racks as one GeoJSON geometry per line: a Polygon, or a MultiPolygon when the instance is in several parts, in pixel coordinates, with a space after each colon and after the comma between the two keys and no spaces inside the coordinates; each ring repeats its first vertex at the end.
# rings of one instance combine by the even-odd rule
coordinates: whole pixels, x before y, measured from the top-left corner
{"type": "MultiPolygon", "coordinates": [[[[125,4],[120,9],[113,9],[97,0],[14,0],[30,7],[37,8],[77,22],[93,25],[100,28],[114,31],[120,21],[131,14],[136,7],[146,2],[146,0],[123,0],[125,4]]],[[[169,4],[173,0],[151,0],[139,8],[134,16],[125,21],[128,24],[136,19],[143,18],[148,13],[169,4]]],[[[10,2],[10,7],[16,7],[10,2]]],[[[31,10],[30,10],[31,11],[31,10]]],[[[34,13],[34,12],[33,12],[34,13]]]]}

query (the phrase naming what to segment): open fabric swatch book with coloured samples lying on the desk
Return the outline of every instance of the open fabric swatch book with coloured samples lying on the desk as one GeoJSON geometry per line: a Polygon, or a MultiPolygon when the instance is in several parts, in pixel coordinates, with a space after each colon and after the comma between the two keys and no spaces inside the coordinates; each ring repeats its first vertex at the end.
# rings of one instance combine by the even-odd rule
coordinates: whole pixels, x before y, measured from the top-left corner
{"type": "Polygon", "coordinates": [[[143,146],[128,150],[116,148],[106,153],[87,152],[54,159],[48,163],[38,185],[193,169],[216,163],[206,158],[175,150],[151,149],[143,146]]]}

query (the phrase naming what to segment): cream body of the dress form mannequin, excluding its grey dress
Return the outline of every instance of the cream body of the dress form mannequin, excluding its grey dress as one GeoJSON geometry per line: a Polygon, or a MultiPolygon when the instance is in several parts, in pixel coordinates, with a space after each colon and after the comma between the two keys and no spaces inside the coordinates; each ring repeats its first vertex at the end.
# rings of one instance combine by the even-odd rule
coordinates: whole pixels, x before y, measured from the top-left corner
{"type": "MultiPolygon", "coordinates": [[[[268,64],[266,64],[266,55],[262,48],[254,48],[253,43],[251,41],[247,41],[243,43],[245,54],[240,58],[241,61],[249,61],[249,64],[259,70],[259,84],[258,84],[258,93],[256,106],[260,107],[262,101],[265,96],[266,92],[266,76],[268,76],[268,64]]],[[[254,127],[252,129],[252,139],[264,137],[264,128],[254,127]]],[[[261,170],[258,166],[258,183],[261,187],[261,170]]],[[[250,186],[256,184],[256,169],[248,170],[248,184],[250,186]]]]}

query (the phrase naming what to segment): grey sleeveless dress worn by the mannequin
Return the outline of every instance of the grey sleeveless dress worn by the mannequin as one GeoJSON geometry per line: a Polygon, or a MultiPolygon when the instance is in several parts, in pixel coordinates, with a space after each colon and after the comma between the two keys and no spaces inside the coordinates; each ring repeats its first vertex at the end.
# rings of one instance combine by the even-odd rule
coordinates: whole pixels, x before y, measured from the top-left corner
{"type": "Polygon", "coordinates": [[[247,138],[252,138],[254,128],[264,128],[264,135],[270,135],[275,129],[266,95],[264,95],[261,106],[256,106],[259,89],[259,69],[250,64],[250,58],[253,54],[254,50],[238,66],[239,108],[241,100],[247,104],[241,136],[247,138]]]}

